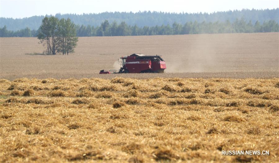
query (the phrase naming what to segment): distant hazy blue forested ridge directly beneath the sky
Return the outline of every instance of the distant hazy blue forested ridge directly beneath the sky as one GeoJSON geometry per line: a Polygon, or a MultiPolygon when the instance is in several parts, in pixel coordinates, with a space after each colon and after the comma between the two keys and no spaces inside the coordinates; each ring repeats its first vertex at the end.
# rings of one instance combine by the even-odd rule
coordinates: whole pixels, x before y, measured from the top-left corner
{"type": "MultiPolygon", "coordinates": [[[[56,14],[55,17],[58,19],[70,18],[76,25],[85,26],[99,26],[104,20],[108,20],[110,23],[116,21],[118,24],[125,22],[127,25],[137,25],[138,27],[152,27],[156,25],[172,25],[173,23],[178,23],[184,25],[187,22],[202,23],[205,22],[225,22],[229,20],[234,22],[236,19],[244,18],[245,20],[251,20],[252,24],[256,21],[263,23],[268,20],[275,20],[279,23],[278,14],[279,8],[276,9],[243,9],[243,10],[233,10],[233,11],[218,11],[213,13],[169,13],[169,12],[157,12],[157,11],[139,11],[139,12],[103,12],[98,14],[56,14]]],[[[46,16],[32,16],[22,19],[13,18],[0,18],[0,27],[3,28],[5,25],[9,30],[17,31],[28,27],[37,30],[41,25],[44,17],[51,17],[51,15],[46,16]]]]}

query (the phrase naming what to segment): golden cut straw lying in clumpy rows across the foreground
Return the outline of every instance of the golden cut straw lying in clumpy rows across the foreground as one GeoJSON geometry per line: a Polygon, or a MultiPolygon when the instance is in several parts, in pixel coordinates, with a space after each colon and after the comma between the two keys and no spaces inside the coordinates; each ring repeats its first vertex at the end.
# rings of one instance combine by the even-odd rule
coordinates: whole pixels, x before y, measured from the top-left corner
{"type": "Polygon", "coordinates": [[[278,162],[278,85],[278,78],[0,79],[1,162],[278,162]]]}

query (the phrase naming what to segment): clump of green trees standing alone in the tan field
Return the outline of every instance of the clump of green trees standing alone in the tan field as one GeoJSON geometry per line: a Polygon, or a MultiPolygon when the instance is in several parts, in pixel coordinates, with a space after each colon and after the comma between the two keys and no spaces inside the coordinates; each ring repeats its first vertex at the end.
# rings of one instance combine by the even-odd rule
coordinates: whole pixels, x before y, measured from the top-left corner
{"type": "Polygon", "coordinates": [[[68,55],[74,52],[78,42],[74,23],[69,18],[59,20],[54,16],[42,20],[37,37],[40,43],[47,44],[48,55],[55,55],[56,52],[68,55]]]}

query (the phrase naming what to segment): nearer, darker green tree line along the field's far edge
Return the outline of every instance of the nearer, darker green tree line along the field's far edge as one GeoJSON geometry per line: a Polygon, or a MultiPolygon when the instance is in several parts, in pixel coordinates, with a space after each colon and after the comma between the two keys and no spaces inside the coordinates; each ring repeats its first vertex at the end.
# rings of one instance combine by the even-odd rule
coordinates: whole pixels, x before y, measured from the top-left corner
{"type": "MultiPolygon", "coordinates": [[[[46,18],[45,18],[46,19],[46,18]]],[[[57,19],[57,18],[56,18],[57,19]]],[[[61,20],[65,20],[62,18],[61,20]]],[[[274,20],[254,24],[250,20],[246,22],[244,18],[234,22],[229,20],[225,22],[187,22],[184,25],[173,23],[172,25],[156,25],[138,27],[137,25],[128,25],[126,22],[118,24],[116,21],[109,23],[105,20],[100,26],[74,25],[75,33],[79,37],[89,36],[138,36],[138,35],[175,35],[175,34],[216,34],[216,33],[254,33],[254,32],[279,32],[278,23],[274,20]]],[[[7,30],[6,27],[0,29],[1,37],[36,37],[39,30],[21,29],[17,32],[7,30]],[[22,32],[22,34],[18,34],[22,32]]]]}

